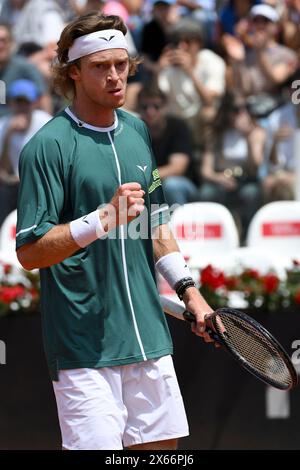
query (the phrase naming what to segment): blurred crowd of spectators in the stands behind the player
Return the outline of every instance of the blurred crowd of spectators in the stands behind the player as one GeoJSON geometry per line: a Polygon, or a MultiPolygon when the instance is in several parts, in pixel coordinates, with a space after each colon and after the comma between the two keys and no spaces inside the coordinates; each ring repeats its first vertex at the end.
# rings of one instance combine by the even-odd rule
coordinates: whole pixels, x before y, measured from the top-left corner
{"type": "Polygon", "coordinates": [[[92,11],[122,17],[142,58],[125,109],[149,127],[169,204],[220,202],[243,238],[262,204],[294,198],[300,0],[0,0],[0,225],[23,146],[67,104],[60,33],[92,11]]]}

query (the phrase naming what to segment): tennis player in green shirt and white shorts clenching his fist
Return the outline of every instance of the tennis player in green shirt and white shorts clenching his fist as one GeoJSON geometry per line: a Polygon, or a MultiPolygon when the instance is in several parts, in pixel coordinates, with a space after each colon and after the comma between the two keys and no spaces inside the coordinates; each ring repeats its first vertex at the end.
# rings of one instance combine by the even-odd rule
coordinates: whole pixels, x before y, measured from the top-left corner
{"type": "Polygon", "coordinates": [[[169,231],[147,129],[119,109],[137,62],[125,33],[116,16],[66,26],[55,80],[72,104],[20,158],[17,254],[40,269],[44,345],[70,450],[175,449],[188,435],[155,262],[210,341],[211,308],[169,231]],[[148,228],[133,236],[139,224],[148,228]]]}

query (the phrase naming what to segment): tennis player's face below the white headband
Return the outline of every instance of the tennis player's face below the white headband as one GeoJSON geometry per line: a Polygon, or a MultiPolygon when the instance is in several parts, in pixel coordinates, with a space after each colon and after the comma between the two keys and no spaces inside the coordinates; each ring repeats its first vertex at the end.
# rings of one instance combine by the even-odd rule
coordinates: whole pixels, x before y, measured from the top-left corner
{"type": "Polygon", "coordinates": [[[70,70],[76,97],[87,99],[106,109],[125,102],[129,58],[124,49],[107,49],[80,59],[80,68],[70,70]]]}

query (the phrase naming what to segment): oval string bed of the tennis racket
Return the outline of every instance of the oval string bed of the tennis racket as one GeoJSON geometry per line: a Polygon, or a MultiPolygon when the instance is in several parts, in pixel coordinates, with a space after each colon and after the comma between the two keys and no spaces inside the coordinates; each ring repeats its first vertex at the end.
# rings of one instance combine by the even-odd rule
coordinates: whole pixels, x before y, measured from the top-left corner
{"type": "Polygon", "coordinates": [[[251,324],[222,314],[215,317],[214,326],[231,350],[255,372],[286,386],[292,384],[290,371],[278,350],[251,324]]]}

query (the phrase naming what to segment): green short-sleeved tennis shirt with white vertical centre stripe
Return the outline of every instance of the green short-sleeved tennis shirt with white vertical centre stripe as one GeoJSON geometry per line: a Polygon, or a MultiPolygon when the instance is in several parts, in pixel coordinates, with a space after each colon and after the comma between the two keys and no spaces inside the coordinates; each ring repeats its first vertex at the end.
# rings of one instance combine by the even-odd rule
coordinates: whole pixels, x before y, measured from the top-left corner
{"type": "Polygon", "coordinates": [[[20,157],[17,248],[108,203],[139,182],[146,209],[73,256],[41,269],[44,346],[50,374],[172,353],[155,282],[151,228],[169,211],[144,123],[122,110],[114,125],[81,123],[67,108],[20,157]],[[143,223],[142,223],[143,222],[143,223]]]}

